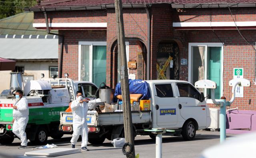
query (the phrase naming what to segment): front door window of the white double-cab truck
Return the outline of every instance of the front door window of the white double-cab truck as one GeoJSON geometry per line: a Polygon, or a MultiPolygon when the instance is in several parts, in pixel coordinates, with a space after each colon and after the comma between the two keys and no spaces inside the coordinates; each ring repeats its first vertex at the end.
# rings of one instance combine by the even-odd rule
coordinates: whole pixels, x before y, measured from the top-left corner
{"type": "Polygon", "coordinates": [[[189,97],[200,100],[200,93],[190,84],[177,83],[180,97],[189,97]]]}

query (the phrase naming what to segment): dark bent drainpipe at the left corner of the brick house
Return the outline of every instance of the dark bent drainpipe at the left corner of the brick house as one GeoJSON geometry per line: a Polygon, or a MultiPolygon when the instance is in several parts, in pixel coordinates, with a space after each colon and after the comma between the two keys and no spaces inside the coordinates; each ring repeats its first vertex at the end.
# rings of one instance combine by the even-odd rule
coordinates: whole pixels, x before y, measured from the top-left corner
{"type": "Polygon", "coordinates": [[[44,7],[42,7],[42,10],[44,11],[44,18],[45,18],[45,22],[46,22],[46,32],[48,34],[52,34],[52,35],[57,35],[60,36],[60,64],[59,64],[59,78],[62,78],[62,62],[63,62],[63,46],[64,46],[64,36],[60,35],[60,34],[54,34],[50,32],[50,28],[49,28],[49,22],[48,22],[48,17],[47,17],[47,12],[45,10],[44,7]]]}

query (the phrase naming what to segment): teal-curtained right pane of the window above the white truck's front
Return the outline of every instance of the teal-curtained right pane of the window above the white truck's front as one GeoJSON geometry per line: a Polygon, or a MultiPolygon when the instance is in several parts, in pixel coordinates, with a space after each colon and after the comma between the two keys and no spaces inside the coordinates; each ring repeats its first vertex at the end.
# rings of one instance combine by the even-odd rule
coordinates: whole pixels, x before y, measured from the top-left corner
{"type": "MultiPolygon", "coordinates": [[[[208,80],[216,82],[214,91],[215,99],[220,99],[221,94],[221,47],[208,47],[208,80]]],[[[211,96],[211,91],[209,91],[211,96]]]]}

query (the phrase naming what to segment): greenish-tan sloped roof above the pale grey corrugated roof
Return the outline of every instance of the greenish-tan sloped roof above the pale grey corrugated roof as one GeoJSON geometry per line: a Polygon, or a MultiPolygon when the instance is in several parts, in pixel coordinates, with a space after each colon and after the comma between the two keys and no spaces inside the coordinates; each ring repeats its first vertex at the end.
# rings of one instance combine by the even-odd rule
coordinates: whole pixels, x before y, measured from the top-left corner
{"type": "MultiPolygon", "coordinates": [[[[46,35],[45,30],[33,28],[34,13],[26,12],[0,20],[0,35],[46,35]]],[[[58,33],[53,30],[52,33],[58,33]]]]}

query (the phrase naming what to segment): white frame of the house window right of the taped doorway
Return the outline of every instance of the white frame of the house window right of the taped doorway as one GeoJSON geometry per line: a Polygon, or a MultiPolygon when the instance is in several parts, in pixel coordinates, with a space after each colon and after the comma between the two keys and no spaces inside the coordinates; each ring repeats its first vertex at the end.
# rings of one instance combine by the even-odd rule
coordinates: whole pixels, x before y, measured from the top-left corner
{"type": "MultiPolygon", "coordinates": [[[[222,84],[221,85],[221,94],[220,96],[223,96],[223,70],[224,70],[224,67],[223,67],[223,56],[224,56],[224,53],[223,53],[223,44],[222,43],[188,43],[188,82],[192,82],[192,46],[205,46],[205,59],[204,59],[204,62],[205,62],[205,70],[208,70],[208,47],[221,47],[221,77],[220,77],[220,83],[222,84]]],[[[204,73],[204,78],[206,79],[207,78],[207,73],[204,73]]],[[[206,94],[206,89],[204,89],[204,94],[206,94]]],[[[218,101],[219,99],[216,99],[216,101],[218,101]]],[[[213,104],[212,100],[211,99],[207,99],[206,100],[207,103],[209,104],[213,104]]]]}

